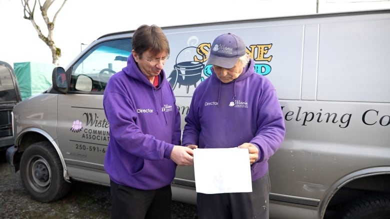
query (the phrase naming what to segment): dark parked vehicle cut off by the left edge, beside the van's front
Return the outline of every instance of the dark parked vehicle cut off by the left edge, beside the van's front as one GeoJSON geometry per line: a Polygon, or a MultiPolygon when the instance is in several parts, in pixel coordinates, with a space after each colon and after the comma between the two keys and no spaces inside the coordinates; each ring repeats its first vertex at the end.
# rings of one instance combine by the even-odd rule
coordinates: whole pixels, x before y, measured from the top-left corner
{"type": "Polygon", "coordinates": [[[0,61],[0,151],[12,146],[12,109],[21,101],[19,86],[13,68],[0,61]]]}

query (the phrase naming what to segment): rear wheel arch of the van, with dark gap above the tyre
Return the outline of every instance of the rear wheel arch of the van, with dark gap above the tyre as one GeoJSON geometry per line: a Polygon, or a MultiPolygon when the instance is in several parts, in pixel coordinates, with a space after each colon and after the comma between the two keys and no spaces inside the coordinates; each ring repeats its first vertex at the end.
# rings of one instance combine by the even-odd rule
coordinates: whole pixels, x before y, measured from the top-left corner
{"type": "Polygon", "coordinates": [[[329,203],[334,201],[333,199],[337,198],[337,195],[345,189],[390,193],[390,188],[383,186],[385,182],[388,182],[388,179],[390,179],[390,167],[388,166],[367,168],[345,175],[329,187],[328,192],[319,205],[320,218],[324,217],[329,203]],[[369,184],[370,182],[375,182],[376,187],[372,187],[372,184],[369,184]],[[369,189],[367,189],[367,185],[371,185],[369,189]]]}

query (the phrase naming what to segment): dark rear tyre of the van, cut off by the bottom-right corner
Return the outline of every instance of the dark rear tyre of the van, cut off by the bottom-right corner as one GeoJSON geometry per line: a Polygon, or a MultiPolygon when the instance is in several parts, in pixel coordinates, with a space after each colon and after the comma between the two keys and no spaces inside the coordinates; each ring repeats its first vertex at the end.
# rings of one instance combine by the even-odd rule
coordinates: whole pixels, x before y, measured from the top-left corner
{"type": "Polygon", "coordinates": [[[341,219],[388,219],[390,194],[373,194],[345,206],[341,219]]]}

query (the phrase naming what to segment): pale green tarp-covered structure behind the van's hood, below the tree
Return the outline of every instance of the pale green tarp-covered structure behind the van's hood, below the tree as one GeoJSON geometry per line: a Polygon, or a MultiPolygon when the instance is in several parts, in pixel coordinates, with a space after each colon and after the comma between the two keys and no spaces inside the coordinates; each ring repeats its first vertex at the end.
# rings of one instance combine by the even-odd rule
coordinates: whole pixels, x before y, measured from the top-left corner
{"type": "Polygon", "coordinates": [[[51,86],[51,72],[53,68],[53,64],[36,62],[13,63],[21,99],[24,100],[47,90],[51,86]]]}

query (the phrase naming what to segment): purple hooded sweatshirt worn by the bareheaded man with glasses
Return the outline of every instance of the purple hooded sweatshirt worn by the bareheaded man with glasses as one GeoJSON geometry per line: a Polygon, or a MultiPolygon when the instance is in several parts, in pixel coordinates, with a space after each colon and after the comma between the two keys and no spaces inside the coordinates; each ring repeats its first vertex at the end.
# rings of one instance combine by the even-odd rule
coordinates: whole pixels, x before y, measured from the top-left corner
{"type": "Polygon", "coordinates": [[[134,58],[111,76],[104,90],[103,107],[109,122],[104,169],[119,185],[153,190],[171,183],[176,164],[173,145],[180,145],[180,114],[162,70],[155,88],[134,58]]]}

